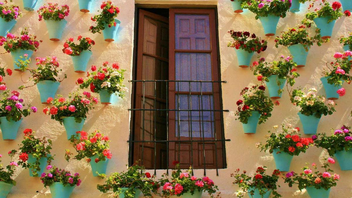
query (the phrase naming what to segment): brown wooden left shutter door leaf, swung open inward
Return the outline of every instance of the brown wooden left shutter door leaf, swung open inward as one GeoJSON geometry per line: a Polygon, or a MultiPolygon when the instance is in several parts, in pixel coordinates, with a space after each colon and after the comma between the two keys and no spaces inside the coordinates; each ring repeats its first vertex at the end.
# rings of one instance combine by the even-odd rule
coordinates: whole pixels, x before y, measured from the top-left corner
{"type": "MultiPolygon", "coordinates": [[[[169,19],[139,10],[136,80],[168,80],[169,19]]],[[[136,109],[167,109],[166,82],[137,82],[136,109]]],[[[167,140],[166,111],[136,111],[134,140],[167,140]]],[[[133,160],[147,169],[167,168],[166,142],[134,143],[133,160]]]]}

